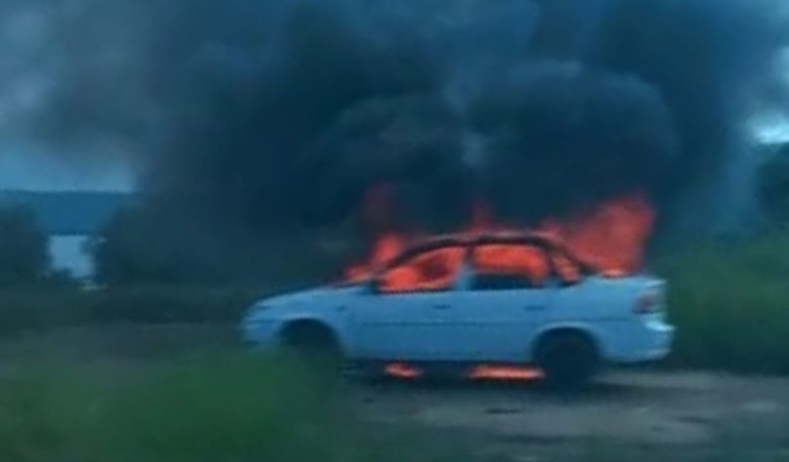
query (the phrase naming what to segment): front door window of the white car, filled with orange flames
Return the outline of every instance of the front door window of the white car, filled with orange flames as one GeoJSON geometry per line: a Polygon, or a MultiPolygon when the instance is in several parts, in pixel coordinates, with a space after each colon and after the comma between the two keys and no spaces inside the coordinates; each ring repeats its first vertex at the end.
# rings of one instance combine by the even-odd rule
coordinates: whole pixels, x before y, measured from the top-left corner
{"type": "Polygon", "coordinates": [[[466,248],[450,246],[414,255],[378,278],[383,293],[435,292],[451,289],[463,266],[466,248]]]}

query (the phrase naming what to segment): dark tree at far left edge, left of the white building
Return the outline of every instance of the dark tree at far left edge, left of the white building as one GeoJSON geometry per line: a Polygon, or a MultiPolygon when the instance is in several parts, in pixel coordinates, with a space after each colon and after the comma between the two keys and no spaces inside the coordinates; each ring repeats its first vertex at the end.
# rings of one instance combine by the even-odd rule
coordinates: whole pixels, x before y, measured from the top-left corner
{"type": "Polygon", "coordinates": [[[0,287],[34,284],[47,278],[50,255],[31,210],[0,208],[0,287]]]}

